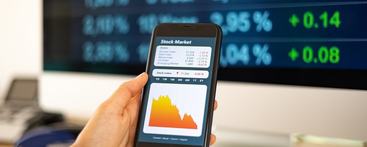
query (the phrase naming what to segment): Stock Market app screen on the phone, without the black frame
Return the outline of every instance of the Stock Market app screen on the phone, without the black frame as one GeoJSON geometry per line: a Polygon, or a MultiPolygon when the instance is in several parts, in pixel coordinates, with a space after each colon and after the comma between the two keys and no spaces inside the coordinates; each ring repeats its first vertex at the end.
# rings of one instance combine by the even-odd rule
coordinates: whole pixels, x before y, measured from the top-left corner
{"type": "Polygon", "coordinates": [[[215,38],[157,37],[139,142],[202,146],[215,38]]]}

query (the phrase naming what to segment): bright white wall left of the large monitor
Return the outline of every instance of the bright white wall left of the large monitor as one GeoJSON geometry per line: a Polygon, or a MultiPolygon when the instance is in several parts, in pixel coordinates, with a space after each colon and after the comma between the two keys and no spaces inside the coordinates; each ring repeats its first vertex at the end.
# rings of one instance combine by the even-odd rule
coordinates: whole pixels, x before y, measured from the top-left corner
{"type": "Polygon", "coordinates": [[[41,0],[0,0],[0,102],[14,76],[42,71],[41,0]]]}

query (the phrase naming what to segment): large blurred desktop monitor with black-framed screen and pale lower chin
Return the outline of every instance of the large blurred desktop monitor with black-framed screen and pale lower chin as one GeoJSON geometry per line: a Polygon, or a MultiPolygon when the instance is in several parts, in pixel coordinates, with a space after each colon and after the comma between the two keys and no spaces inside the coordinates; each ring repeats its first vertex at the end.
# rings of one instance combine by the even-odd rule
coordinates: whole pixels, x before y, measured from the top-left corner
{"type": "Polygon", "coordinates": [[[43,2],[46,109],[92,114],[113,86],[145,71],[156,25],[214,23],[223,30],[217,99],[227,108],[214,125],[367,138],[367,1],[43,2]]]}

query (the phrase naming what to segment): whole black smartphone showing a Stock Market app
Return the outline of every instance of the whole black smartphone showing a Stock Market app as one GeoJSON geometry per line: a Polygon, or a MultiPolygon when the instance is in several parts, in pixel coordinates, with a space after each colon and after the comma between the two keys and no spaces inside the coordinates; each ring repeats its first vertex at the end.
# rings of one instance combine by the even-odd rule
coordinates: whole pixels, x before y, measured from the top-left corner
{"type": "Polygon", "coordinates": [[[222,30],[160,24],[152,34],[134,147],[208,147],[222,30]]]}

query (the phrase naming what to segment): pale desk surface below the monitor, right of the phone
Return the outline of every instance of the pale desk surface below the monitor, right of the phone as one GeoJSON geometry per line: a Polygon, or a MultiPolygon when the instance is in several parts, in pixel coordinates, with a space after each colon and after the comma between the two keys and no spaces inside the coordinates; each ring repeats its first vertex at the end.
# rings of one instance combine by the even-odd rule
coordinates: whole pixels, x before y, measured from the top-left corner
{"type": "Polygon", "coordinates": [[[366,142],[344,139],[213,128],[217,141],[212,147],[367,147],[366,142]]]}

